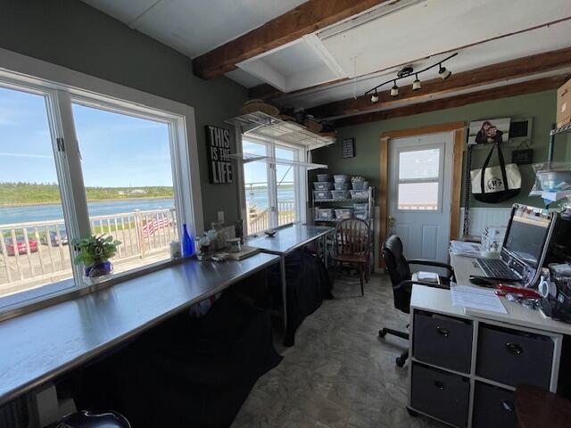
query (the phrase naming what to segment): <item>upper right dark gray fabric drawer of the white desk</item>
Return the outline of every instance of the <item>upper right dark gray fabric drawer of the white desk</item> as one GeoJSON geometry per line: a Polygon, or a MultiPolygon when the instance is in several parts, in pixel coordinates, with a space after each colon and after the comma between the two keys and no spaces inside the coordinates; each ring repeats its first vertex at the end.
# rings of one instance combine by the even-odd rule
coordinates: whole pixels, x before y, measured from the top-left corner
{"type": "Polygon", "coordinates": [[[549,336],[481,325],[476,374],[510,386],[549,389],[553,346],[549,336]]]}

